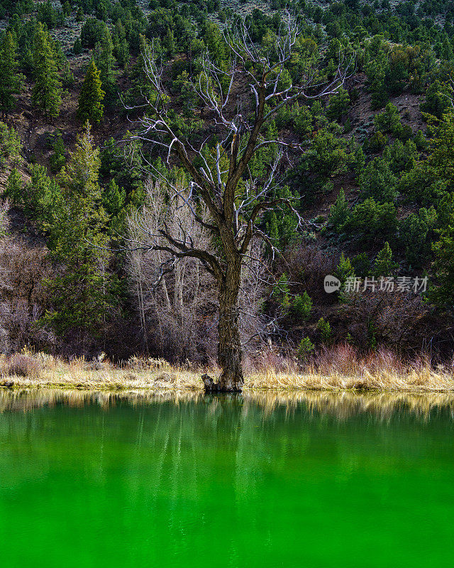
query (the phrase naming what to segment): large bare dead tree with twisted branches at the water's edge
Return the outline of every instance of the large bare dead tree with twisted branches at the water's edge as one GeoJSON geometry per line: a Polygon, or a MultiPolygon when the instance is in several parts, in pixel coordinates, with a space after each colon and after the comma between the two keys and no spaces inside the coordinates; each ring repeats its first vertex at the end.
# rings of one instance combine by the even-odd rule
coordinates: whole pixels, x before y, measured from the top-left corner
{"type": "MultiPolygon", "coordinates": [[[[312,69],[301,77],[299,84],[287,83],[282,87],[285,65],[292,57],[297,34],[297,26],[287,17],[285,28],[277,34],[273,53],[265,53],[253,43],[248,27],[241,22],[236,33],[224,33],[230,53],[227,70],[218,67],[208,54],[201,58],[202,72],[194,83],[194,90],[206,111],[211,113],[217,133],[221,134],[222,141],[214,148],[210,137],[194,147],[187,138],[177,136],[168,114],[170,97],[162,81],[163,70],[157,64],[153,46],[142,54],[153,97],[146,101],[148,111],[140,119],[140,134],[136,138],[164,150],[167,163],[172,154],[177,156],[179,165],[192,180],[184,197],[184,207],[191,212],[194,226],[198,224],[207,229],[211,241],[216,243],[211,249],[197,249],[190,231],[175,234],[170,226],[163,224],[155,234],[154,244],[149,245],[156,251],[171,253],[176,259],[188,256],[199,259],[216,280],[221,376],[217,382],[203,377],[207,391],[236,392],[243,386],[243,349],[238,329],[242,266],[250,256],[253,239],[264,239],[270,244],[270,239],[260,229],[262,214],[277,207],[291,207],[288,200],[272,196],[283,153],[298,148],[282,140],[266,139],[265,127],[283,105],[299,97],[326,97],[336,92],[345,80],[346,71],[340,62],[330,84],[316,84],[319,75],[312,69]],[[239,104],[236,99],[238,85],[248,87],[250,98],[247,103],[239,104]],[[252,179],[248,175],[250,160],[261,148],[272,145],[278,150],[270,163],[267,178],[252,179]],[[207,153],[209,148],[211,151],[207,153]],[[193,165],[195,155],[201,157],[201,168],[193,165]],[[208,218],[201,217],[202,208],[208,212],[208,218]],[[162,244],[162,237],[166,244],[162,244]]],[[[182,193],[170,176],[151,164],[150,168],[158,180],[173,190],[168,200],[182,200],[182,193]]]]}

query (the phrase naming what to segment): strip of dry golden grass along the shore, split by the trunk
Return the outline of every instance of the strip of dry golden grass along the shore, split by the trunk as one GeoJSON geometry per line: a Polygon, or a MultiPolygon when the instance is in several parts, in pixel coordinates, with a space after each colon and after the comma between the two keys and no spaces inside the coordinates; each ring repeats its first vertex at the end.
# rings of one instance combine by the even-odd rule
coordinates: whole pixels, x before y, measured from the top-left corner
{"type": "MultiPolygon", "coordinates": [[[[163,359],[133,357],[113,365],[96,361],[63,361],[48,354],[0,356],[0,386],[7,388],[77,388],[84,390],[148,389],[152,391],[201,391],[201,374],[216,376],[216,368],[190,364],[171,366],[163,359]]],[[[434,368],[428,359],[404,364],[389,351],[359,356],[350,346],[337,346],[305,365],[267,352],[249,359],[245,389],[313,391],[454,392],[453,365],[434,368]]]]}

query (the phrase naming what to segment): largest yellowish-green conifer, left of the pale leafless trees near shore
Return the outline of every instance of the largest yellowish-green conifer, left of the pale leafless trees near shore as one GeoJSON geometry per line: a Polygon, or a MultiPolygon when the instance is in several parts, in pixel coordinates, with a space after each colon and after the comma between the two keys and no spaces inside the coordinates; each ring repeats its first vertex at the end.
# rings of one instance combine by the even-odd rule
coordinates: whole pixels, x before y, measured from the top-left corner
{"type": "Polygon", "coordinates": [[[108,217],[101,205],[99,163],[99,148],[87,122],[59,175],[64,207],[50,226],[52,256],[65,271],[49,283],[53,310],[42,323],[60,335],[77,332],[83,345],[89,335],[101,332],[114,304],[116,283],[108,271],[108,217]]]}

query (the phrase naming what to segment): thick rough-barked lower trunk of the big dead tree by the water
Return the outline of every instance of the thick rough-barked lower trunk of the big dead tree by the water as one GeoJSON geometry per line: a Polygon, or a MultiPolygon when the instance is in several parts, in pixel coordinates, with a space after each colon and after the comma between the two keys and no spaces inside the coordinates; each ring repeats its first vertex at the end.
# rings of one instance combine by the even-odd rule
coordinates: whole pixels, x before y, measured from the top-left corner
{"type": "Polygon", "coordinates": [[[205,391],[218,393],[239,393],[243,388],[243,349],[238,327],[238,294],[240,292],[241,265],[238,262],[228,266],[219,284],[218,323],[218,365],[221,376],[217,383],[204,375],[205,391]]]}

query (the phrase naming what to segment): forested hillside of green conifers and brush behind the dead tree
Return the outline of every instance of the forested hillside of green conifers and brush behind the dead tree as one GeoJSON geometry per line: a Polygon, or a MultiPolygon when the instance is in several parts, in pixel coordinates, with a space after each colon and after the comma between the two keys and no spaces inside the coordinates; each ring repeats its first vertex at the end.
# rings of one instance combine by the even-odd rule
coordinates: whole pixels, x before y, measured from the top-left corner
{"type": "MultiPolygon", "coordinates": [[[[238,182],[240,200],[272,178],[275,200],[254,218],[266,239],[243,271],[243,344],[301,361],[337,342],[452,353],[451,0],[0,0],[0,18],[0,351],[214,357],[203,259],[146,246],[169,204],[163,180],[182,196],[194,180],[143,127],[165,102],[192,165],[214,168],[221,126],[198,91],[207,59],[227,76],[226,38],[245,18],[271,63],[289,19],[298,32],[267,107],[277,142],[238,182]],[[326,293],[326,275],[341,289],[326,293]]],[[[250,85],[231,89],[248,129],[250,85]]],[[[166,214],[189,232],[189,217],[166,214]]],[[[204,230],[194,239],[218,247],[204,230]]]]}

